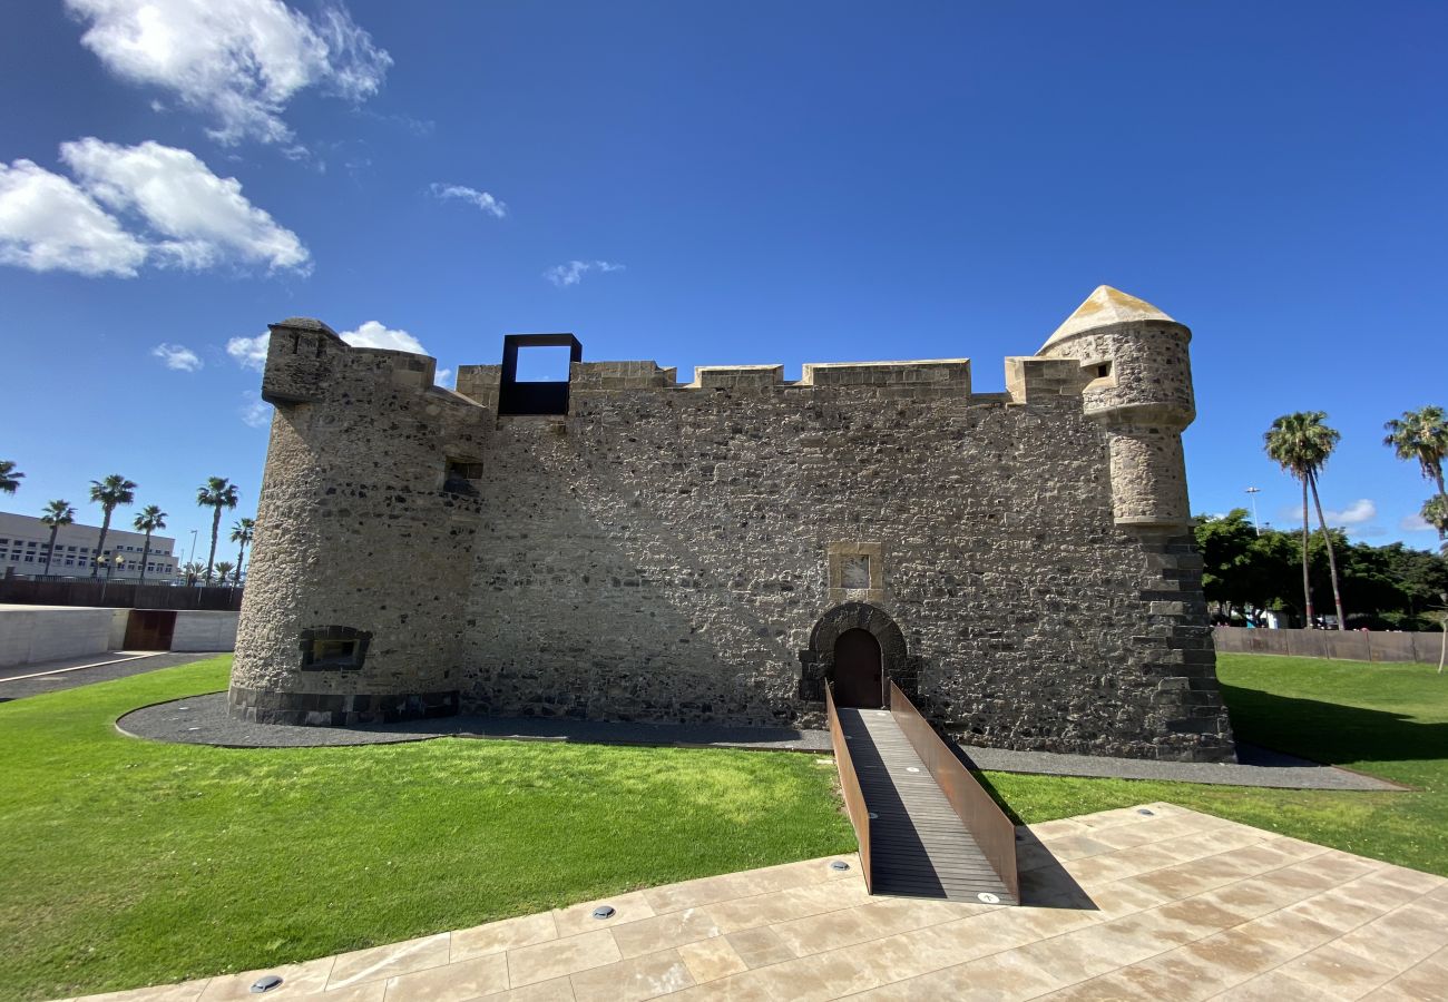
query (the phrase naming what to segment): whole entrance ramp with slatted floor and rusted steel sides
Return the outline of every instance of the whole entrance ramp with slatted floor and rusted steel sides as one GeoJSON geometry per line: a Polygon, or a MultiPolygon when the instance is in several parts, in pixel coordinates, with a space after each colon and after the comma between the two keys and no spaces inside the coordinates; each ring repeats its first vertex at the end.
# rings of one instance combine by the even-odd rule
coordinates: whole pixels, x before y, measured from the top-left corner
{"type": "Polygon", "coordinates": [[[831,731],[846,746],[835,762],[870,893],[1019,904],[1015,825],[891,688],[889,710],[830,701],[831,731]]]}

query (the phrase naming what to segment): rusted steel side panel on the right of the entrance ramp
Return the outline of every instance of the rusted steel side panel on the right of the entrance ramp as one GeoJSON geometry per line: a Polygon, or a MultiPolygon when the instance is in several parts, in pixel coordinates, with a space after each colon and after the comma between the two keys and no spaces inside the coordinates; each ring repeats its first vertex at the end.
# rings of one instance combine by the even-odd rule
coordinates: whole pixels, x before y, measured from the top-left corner
{"type": "MultiPolygon", "coordinates": [[[[915,754],[925,763],[925,769],[930,770],[931,778],[940,786],[941,792],[944,792],[946,799],[950,801],[951,809],[954,809],[960,822],[966,825],[966,831],[976,840],[982,854],[990,863],[990,869],[996,872],[996,876],[1001,877],[1001,882],[1011,895],[1019,901],[1021,879],[1015,870],[1015,825],[1011,822],[1011,818],[990,799],[990,795],[976,782],[970,770],[960,765],[960,759],[950,750],[950,746],[940,738],[935,728],[930,725],[930,721],[919,715],[915,704],[901,692],[895,682],[891,682],[891,715],[895,717],[895,723],[905,733],[905,740],[915,749],[915,754]]],[[[837,727],[834,721],[834,704],[831,702],[831,734],[835,733],[837,727]]],[[[838,744],[844,744],[844,741],[840,740],[838,744]]],[[[837,759],[838,754],[838,750],[835,750],[837,759]]],[[[844,775],[843,767],[840,769],[840,775],[844,775]]],[[[849,796],[846,802],[849,802],[849,796]]],[[[859,825],[856,825],[856,830],[859,830],[859,825]]],[[[860,844],[864,844],[863,838],[860,844]]]]}

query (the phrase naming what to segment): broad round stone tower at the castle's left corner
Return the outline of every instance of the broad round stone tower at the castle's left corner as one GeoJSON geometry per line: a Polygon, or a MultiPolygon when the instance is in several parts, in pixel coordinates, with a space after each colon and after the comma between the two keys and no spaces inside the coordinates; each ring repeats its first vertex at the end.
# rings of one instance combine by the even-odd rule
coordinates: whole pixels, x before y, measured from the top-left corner
{"type": "Polygon", "coordinates": [[[277,407],[229,702],[346,724],[458,711],[487,413],[436,361],[271,326],[277,407]]]}

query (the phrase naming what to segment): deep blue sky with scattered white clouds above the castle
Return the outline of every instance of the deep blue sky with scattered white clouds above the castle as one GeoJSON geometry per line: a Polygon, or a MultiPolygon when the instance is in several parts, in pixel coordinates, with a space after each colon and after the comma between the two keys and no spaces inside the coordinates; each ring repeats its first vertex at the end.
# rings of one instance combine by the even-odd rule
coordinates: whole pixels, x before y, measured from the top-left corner
{"type": "Polygon", "coordinates": [[[1338,521],[1434,543],[1381,426],[1448,404],[1441,3],[222,7],[7,13],[7,510],[94,520],[122,472],[204,553],[206,476],[255,511],[243,339],[287,316],[449,369],[571,330],[990,391],[1105,282],[1195,332],[1195,510],[1292,524],[1261,433],[1323,410],[1338,521]]]}

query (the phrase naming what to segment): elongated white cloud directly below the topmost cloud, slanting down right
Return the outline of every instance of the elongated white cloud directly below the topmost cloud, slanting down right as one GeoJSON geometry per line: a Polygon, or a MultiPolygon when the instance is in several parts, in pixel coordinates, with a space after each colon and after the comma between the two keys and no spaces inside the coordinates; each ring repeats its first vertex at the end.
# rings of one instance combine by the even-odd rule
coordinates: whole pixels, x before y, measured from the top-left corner
{"type": "Polygon", "coordinates": [[[153,255],[181,268],[223,261],[307,271],[311,255],[242,194],[236,178],[219,178],[195,153],[156,142],[117,146],[96,138],[61,143],[81,184],[114,211],[133,211],[159,235],[153,255]]]}

